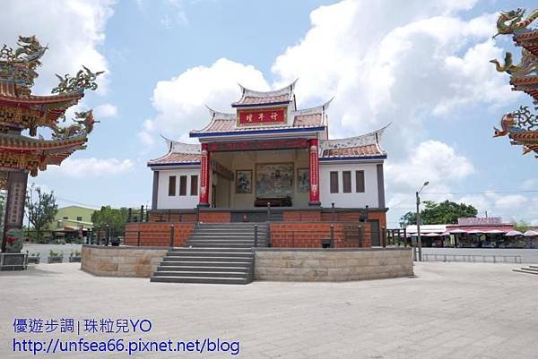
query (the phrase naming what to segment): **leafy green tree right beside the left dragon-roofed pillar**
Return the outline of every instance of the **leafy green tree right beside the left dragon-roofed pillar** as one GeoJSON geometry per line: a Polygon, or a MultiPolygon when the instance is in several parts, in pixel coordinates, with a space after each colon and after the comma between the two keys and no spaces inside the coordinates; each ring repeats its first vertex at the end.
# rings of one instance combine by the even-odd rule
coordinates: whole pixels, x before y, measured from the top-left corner
{"type": "Polygon", "coordinates": [[[43,228],[54,221],[58,212],[54,192],[45,192],[40,187],[30,185],[26,193],[26,211],[28,220],[36,231],[36,239],[41,239],[43,228]]]}

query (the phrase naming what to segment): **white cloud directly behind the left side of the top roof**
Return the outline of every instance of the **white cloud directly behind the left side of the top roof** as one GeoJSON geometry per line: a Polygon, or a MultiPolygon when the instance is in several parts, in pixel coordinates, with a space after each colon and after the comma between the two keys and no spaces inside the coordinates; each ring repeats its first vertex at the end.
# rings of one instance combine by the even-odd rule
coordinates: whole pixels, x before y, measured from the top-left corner
{"type": "Polygon", "coordinates": [[[209,123],[204,105],[230,112],[230,103],[240,98],[238,82],[254,89],[267,90],[264,75],[251,65],[225,58],[211,66],[197,66],[168,81],[159,81],[153,90],[152,105],[158,115],[146,120],[139,138],[145,144],[157,132],[190,141],[188,132],[209,123]]]}

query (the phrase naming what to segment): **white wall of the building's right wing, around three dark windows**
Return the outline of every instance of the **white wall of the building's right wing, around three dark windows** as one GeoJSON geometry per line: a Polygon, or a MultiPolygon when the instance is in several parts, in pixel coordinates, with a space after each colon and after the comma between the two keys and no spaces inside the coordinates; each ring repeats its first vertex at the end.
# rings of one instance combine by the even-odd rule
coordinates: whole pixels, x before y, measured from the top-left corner
{"type": "Polygon", "coordinates": [[[320,201],[323,207],[377,208],[377,164],[376,163],[319,163],[320,201]],[[330,172],[338,171],[338,193],[331,193],[330,172]],[[351,171],[351,193],[343,193],[343,171],[351,171]],[[355,192],[355,171],[364,171],[364,192],[355,192]]]}

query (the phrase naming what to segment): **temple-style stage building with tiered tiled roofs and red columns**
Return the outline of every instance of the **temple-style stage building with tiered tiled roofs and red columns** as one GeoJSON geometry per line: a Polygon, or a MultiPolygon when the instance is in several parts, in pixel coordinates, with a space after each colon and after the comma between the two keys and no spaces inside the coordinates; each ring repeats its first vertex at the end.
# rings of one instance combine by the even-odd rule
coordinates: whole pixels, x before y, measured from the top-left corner
{"type": "Polygon", "coordinates": [[[209,109],[208,123],[189,133],[199,144],[165,139],[167,153],[148,162],[152,215],[199,208],[221,221],[259,221],[270,206],[283,217],[366,211],[373,227],[386,227],[386,128],[329,139],[330,101],[298,109],[294,88],[240,86],[230,113],[209,109]]]}

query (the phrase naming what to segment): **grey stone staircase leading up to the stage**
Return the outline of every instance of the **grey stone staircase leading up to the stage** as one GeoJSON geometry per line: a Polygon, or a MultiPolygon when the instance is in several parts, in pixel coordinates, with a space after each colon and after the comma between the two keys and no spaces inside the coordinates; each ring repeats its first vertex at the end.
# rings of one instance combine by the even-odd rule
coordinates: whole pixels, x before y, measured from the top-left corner
{"type": "Polygon", "coordinates": [[[254,225],[267,246],[265,223],[199,224],[185,247],[167,252],[152,282],[247,284],[254,269],[254,225]]]}

